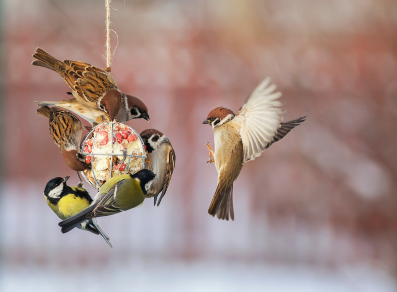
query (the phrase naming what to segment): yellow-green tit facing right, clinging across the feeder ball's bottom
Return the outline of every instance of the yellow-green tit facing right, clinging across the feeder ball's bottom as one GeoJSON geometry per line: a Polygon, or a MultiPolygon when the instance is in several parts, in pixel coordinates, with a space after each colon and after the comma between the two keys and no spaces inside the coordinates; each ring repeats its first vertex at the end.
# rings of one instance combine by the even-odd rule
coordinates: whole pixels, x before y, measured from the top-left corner
{"type": "Polygon", "coordinates": [[[140,206],[155,176],[148,169],[113,176],[100,187],[88,208],[59,223],[62,233],[87,219],[109,216],[140,206]]]}

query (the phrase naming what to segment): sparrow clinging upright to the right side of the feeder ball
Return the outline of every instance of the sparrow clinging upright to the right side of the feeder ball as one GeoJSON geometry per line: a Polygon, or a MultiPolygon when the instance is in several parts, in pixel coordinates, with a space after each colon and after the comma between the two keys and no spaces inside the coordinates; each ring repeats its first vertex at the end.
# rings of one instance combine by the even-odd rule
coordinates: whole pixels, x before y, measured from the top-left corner
{"type": "Polygon", "coordinates": [[[150,170],[156,174],[152,185],[147,190],[146,198],[154,197],[156,205],[157,196],[161,193],[157,206],[167,192],[171,176],[175,167],[175,151],[170,141],[163,133],[147,129],[140,133],[150,157],[150,170]]]}

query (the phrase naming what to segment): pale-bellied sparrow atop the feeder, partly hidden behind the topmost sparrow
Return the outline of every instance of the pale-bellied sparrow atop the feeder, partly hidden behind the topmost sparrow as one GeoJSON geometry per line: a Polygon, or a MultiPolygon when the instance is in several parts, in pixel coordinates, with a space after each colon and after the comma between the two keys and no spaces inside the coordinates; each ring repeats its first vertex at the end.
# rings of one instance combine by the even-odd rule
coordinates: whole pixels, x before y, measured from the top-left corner
{"type": "MultiPolygon", "coordinates": [[[[71,92],[66,92],[71,95],[71,92]]],[[[84,120],[91,123],[92,127],[105,121],[110,121],[109,117],[101,110],[85,106],[75,98],[60,101],[35,101],[39,106],[59,106],[65,108],[84,120]]],[[[123,93],[121,108],[116,116],[116,120],[125,123],[131,119],[143,118],[149,120],[146,105],[139,99],[123,93]]]]}

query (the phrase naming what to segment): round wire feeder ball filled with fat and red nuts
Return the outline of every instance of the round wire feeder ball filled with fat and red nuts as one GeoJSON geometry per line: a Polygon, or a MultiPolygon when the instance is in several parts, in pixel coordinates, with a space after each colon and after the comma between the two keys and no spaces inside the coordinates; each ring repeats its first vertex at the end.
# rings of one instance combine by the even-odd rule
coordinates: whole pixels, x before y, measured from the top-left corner
{"type": "Polygon", "coordinates": [[[81,171],[84,179],[99,189],[115,174],[141,170],[147,159],[142,138],[131,127],[118,122],[104,122],[85,135],[80,145],[91,169],[81,171]]]}

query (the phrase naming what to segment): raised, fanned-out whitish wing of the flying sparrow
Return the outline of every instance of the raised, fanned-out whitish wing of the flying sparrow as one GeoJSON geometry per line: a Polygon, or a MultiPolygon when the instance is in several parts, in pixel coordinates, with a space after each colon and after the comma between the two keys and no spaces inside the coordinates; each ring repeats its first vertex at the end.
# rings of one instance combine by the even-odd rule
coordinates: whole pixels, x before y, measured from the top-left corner
{"type": "Polygon", "coordinates": [[[266,77],[247,98],[239,113],[233,119],[240,124],[240,136],[243,143],[243,163],[254,160],[261,155],[271,143],[285,113],[282,101],[278,98],[281,92],[266,77]]]}

